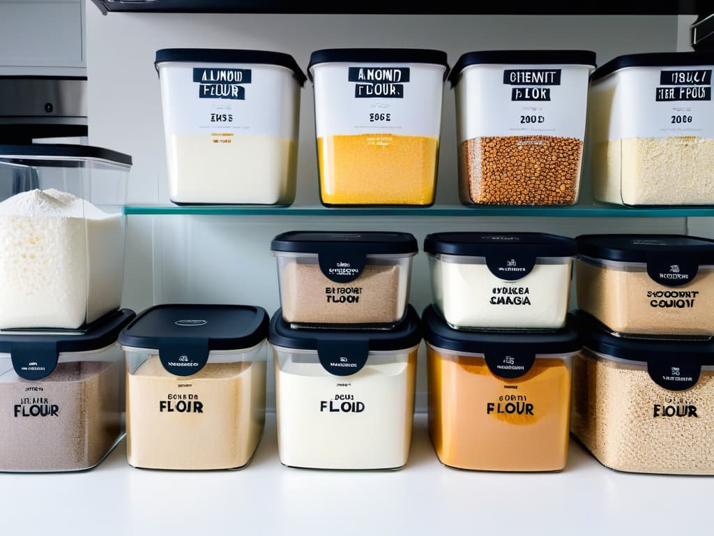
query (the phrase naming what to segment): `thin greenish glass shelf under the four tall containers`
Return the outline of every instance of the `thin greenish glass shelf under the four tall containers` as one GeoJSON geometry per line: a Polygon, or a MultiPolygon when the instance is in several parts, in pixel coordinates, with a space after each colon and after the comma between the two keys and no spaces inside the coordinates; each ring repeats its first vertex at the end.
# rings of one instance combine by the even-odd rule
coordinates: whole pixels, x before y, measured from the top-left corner
{"type": "Polygon", "coordinates": [[[196,205],[177,207],[139,206],[124,208],[129,215],[193,214],[211,216],[404,216],[404,217],[591,217],[591,218],[683,218],[714,217],[714,207],[618,207],[617,205],[575,205],[574,207],[466,207],[435,205],[433,207],[353,207],[327,208],[321,205],[291,207],[242,207],[196,205]]]}

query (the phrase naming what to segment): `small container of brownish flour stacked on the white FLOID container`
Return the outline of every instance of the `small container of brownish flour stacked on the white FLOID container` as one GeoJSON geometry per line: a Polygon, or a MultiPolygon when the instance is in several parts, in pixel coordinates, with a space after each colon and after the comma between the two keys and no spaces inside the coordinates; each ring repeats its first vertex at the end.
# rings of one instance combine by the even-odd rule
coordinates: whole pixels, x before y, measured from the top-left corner
{"type": "Polygon", "coordinates": [[[271,249],[293,327],[391,327],[406,314],[418,252],[409,233],[293,231],[271,249]]]}

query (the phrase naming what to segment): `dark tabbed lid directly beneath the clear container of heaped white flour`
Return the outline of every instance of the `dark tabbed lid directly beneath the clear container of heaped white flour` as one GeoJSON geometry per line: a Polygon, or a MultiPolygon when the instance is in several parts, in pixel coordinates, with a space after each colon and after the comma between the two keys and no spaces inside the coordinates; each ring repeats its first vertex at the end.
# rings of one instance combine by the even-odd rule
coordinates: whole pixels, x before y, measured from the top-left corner
{"type": "Polygon", "coordinates": [[[19,377],[43,379],[57,366],[59,354],[92,352],[116,342],[119,333],[136,317],[131,309],[106,314],[86,327],[84,334],[0,334],[0,353],[10,354],[19,377]]]}

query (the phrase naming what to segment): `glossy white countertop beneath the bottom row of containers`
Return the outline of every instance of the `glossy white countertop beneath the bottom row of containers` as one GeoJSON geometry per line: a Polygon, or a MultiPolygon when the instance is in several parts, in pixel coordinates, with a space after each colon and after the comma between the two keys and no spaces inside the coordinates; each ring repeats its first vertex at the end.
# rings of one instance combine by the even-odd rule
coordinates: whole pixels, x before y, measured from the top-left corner
{"type": "Polygon", "coordinates": [[[714,479],[613,472],[575,442],[563,472],[453,470],[423,414],[402,470],[293,469],[268,415],[241,471],[134,469],[122,442],[89,472],[0,474],[0,497],[0,533],[23,536],[712,534],[714,479]]]}

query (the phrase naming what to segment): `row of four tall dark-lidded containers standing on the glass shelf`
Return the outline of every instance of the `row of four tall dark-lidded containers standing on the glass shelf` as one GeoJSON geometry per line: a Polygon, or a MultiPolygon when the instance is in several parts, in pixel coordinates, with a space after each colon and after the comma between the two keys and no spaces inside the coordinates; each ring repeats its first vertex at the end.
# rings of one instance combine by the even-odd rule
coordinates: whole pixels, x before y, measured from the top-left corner
{"type": "Polygon", "coordinates": [[[595,69],[593,51],[473,51],[450,69],[431,49],[325,49],[306,76],[289,54],[162,49],[155,65],[176,204],[291,204],[308,77],[326,206],[433,204],[445,81],[463,204],[575,204],[586,117],[595,199],[714,204],[711,52],[595,69]]]}

